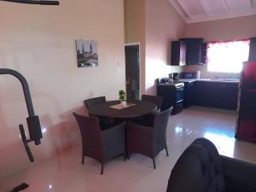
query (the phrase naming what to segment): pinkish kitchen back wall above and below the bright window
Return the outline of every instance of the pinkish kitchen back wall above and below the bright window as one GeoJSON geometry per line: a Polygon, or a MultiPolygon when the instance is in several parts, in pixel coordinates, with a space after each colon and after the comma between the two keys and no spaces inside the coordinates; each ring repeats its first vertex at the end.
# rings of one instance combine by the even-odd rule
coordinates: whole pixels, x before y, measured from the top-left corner
{"type": "MultiPolygon", "coordinates": [[[[209,41],[223,41],[256,37],[256,15],[228,20],[212,20],[192,23],[186,27],[187,38],[205,38],[209,41]]],[[[230,77],[237,73],[208,73],[207,66],[186,66],[185,71],[201,70],[202,78],[230,77]]]]}

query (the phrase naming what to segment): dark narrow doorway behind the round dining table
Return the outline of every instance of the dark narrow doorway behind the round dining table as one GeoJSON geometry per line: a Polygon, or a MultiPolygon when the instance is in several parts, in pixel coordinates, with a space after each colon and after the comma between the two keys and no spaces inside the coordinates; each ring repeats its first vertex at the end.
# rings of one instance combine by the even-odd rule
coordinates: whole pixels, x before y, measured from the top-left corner
{"type": "Polygon", "coordinates": [[[125,44],[126,99],[135,101],[140,97],[140,47],[125,44]]]}

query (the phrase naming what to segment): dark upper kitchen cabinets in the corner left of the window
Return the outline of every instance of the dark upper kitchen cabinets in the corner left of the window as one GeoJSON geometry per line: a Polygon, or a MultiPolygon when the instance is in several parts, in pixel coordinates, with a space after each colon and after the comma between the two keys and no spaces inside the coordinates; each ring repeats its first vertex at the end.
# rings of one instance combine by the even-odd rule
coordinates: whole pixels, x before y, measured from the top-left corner
{"type": "Polygon", "coordinates": [[[172,42],[173,66],[203,65],[206,64],[206,55],[207,44],[203,38],[180,38],[172,42]]]}

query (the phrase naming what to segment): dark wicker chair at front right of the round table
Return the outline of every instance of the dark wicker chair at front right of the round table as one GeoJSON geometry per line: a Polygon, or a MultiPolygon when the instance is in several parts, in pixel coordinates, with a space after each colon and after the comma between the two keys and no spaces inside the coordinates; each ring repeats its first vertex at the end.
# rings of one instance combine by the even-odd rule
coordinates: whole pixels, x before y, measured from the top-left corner
{"type": "Polygon", "coordinates": [[[128,159],[131,153],[144,154],[153,160],[162,149],[166,149],[166,127],[172,108],[160,113],[151,113],[153,125],[137,125],[128,123],[126,125],[127,136],[127,155],[128,159]]]}

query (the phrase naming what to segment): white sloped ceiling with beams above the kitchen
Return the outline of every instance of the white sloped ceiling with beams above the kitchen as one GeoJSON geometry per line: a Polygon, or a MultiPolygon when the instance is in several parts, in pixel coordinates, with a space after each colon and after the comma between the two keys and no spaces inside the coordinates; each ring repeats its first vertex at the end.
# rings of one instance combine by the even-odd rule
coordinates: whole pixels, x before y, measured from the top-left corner
{"type": "Polygon", "coordinates": [[[256,0],[169,0],[188,23],[256,15],[256,0]]]}

